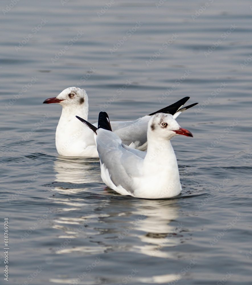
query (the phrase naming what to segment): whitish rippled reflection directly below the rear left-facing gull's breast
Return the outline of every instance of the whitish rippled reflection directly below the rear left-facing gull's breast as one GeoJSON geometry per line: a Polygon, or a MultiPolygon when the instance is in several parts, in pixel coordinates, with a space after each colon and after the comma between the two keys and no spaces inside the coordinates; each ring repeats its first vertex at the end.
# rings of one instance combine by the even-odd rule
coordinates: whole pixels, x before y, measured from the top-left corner
{"type": "MultiPolygon", "coordinates": [[[[45,186],[54,187],[56,192],[49,199],[65,205],[59,211],[74,211],[79,207],[90,207],[86,197],[103,193],[99,158],[57,157],[54,161],[55,182],[45,186]]],[[[94,201],[93,205],[96,205],[94,201]]],[[[71,221],[70,221],[71,223],[71,221]]]]}

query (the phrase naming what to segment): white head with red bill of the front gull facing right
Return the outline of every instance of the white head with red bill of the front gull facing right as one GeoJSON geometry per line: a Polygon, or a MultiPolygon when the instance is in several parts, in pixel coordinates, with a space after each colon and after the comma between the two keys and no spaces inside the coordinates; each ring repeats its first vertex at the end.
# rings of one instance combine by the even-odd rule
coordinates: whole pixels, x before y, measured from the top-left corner
{"type": "Polygon", "coordinates": [[[151,117],[148,123],[148,137],[170,140],[175,135],[192,137],[186,129],[182,129],[171,114],[157,113],[151,117]]]}

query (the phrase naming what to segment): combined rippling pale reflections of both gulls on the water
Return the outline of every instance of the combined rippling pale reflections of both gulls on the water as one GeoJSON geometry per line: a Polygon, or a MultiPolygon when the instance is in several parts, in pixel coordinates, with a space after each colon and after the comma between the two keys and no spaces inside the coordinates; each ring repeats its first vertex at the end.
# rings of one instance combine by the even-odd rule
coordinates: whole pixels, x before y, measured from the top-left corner
{"type": "MultiPolygon", "coordinates": [[[[102,254],[130,252],[162,260],[174,258],[169,248],[180,243],[177,237],[181,236],[182,225],[175,222],[179,198],[146,200],[121,196],[110,188],[104,191],[98,159],[59,157],[54,170],[57,194],[50,199],[60,205],[52,225],[59,231],[56,255],[67,258],[78,254],[93,260],[102,254]]],[[[175,280],[175,272],[166,273],[171,274],[139,275],[134,280],[160,284],[175,280]]],[[[50,281],[71,283],[73,279],[64,276],[50,281]]],[[[122,278],[101,278],[91,273],[85,282],[121,283],[122,278]]]]}

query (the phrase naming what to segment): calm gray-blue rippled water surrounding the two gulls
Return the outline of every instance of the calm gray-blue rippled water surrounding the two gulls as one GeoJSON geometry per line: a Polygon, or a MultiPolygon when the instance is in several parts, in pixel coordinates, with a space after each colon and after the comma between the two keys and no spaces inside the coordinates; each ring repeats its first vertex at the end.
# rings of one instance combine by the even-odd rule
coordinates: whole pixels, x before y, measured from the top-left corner
{"type": "Polygon", "coordinates": [[[251,1],[206,3],[0,2],[1,284],[251,284],[251,1]],[[42,102],[70,86],[91,122],[199,102],[173,139],[181,196],[116,195],[98,159],[58,157],[42,102]]]}

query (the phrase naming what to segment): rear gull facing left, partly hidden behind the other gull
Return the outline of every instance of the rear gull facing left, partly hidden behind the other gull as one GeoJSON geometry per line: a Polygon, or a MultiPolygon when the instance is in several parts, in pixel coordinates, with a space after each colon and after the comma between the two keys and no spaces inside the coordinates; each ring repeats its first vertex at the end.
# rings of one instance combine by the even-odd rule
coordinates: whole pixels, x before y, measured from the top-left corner
{"type": "MultiPolygon", "coordinates": [[[[112,130],[124,144],[139,150],[146,150],[147,125],[151,116],[162,112],[170,113],[176,119],[181,112],[198,104],[194,103],[183,107],[189,98],[185,97],[170,106],[134,121],[111,122],[112,130]]],[[[84,89],[66,88],[57,97],[48,98],[43,103],[59,103],[62,106],[62,114],[55,136],[56,148],[60,156],[98,157],[93,131],[75,118],[77,115],[87,120],[88,97],[84,89]]],[[[97,127],[97,123],[94,125],[97,127]]]]}

